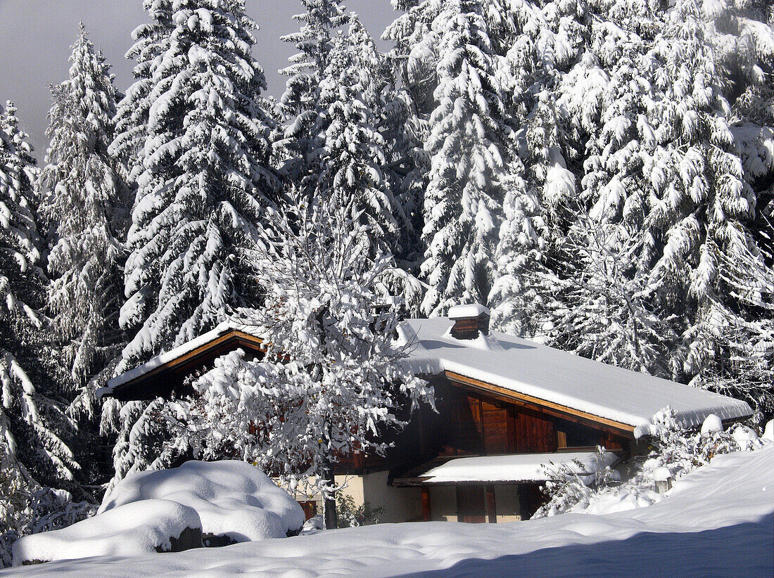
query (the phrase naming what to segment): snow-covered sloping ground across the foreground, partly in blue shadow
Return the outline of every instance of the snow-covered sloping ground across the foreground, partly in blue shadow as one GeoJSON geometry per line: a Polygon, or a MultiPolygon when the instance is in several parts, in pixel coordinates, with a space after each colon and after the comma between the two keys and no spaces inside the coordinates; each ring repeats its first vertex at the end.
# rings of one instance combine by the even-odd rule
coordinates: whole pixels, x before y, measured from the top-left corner
{"type": "Polygon", "coordinates": [[[111,576],[772,576],[774,444],[715,458],[649,508],[529,522],[385,524],[9,570],[111,576]]]}

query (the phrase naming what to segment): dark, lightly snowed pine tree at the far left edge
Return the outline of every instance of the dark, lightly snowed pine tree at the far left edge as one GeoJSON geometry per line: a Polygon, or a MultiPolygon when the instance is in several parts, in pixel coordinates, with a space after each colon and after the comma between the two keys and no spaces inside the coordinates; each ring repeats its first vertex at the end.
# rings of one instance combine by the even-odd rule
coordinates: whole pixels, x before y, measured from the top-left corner
{"type": "MultiPolygon", "coordinates": [[[[64,412],[63,388],[47,334],[46,277],[40,268],[32,147],[19,128],[12,103],[0,111],[0,509],[22,508],[0,531],[0,558],[35,527],[39,516],[61,507],[66,492],[79,489],[80,469],[68,446],[73,425],[64,412]],[[29,506],[30,492],[39,508],[29,506]],[[6,502],[8,501],[8,502],[6,502]]],[[[4,513],[5,517],[5,513],[4,513]]]]}

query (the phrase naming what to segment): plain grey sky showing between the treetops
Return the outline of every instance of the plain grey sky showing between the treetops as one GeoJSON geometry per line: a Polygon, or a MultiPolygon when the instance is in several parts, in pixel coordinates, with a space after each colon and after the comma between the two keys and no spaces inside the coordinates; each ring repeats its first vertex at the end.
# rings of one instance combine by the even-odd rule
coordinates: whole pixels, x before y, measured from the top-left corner
{"type": "MultiPolygon", "coordinates": [[[[395,18],[389,0],[349,0],[372,36],[382,35],[395,18]]],[[[298,29],[291,17],[301,12],[298,0],[247,0],[248,14],[259,23],[255,56],[265,69],[269,94],[279,96],[285,67],[293,46],[279,36],[298,29]]],[[[132,45],[131,33],[147,22],[142,0],[0,0],[0,102],[15,101],[22,125],[32,137],[40,161],[46,151],[46,114],[49,85],[67,77],[72,45],[80,20],[91,40],[113,65],[116,84],[125,90],[132,82],[132,62],[124,55],[132,45]]]]}

